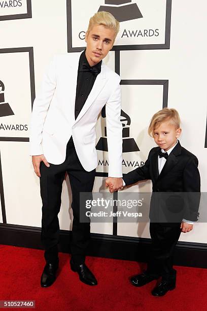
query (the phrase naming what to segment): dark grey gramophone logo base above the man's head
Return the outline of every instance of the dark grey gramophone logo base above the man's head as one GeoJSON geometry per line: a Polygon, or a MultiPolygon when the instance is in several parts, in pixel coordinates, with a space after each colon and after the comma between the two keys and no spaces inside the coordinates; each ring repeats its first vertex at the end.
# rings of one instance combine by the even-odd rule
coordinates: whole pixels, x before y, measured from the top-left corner
{"type": "Polygon", "coordinates": [[[131,0],[105,0],[105,5],[98,11],[110,12],[119,22],[143,17],[137,4],[131,0]]]}

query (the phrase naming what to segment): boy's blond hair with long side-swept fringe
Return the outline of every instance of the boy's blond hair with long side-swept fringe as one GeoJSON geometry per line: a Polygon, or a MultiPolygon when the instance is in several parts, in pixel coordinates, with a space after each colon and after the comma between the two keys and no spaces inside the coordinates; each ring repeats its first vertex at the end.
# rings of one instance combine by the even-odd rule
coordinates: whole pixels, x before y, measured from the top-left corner
{"type": "Polygon", "coordinates": [[[175,125],[176,129],[180,129],[181,120],[178,111],[174,108],[163,108],[153,115],[148,128],[148,134],[153,137],[154,129],[159,126],[160,123],[168,120],[175,125]]]}

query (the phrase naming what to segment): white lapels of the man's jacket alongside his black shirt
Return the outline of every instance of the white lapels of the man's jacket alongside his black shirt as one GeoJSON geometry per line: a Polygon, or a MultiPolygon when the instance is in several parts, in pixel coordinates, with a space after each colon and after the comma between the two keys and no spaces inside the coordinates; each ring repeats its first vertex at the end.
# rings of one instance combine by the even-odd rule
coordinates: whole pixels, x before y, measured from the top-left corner
{"type": "MultiPolygon", "coordinates": [[[[98,96],[99,92],[101,89],[105,86],[107,79],[106,79],[106,65],[103,63],[101,64],[101,72],[97,75],[95,82],[93,84],[93,87],[91,89],[91,92],[81,109],[77,119],[75,120],[74,124],[80,120],[80,118],[86,113],[88,108],[92,105],[93,101],[96,99],[98,96]]],[[[78,69],[77,69],[78,70],[78,69]]],[[[75,92],[75,98],[74,98],[74,110],[75,110],[75,100],[76,100],[76,92],[75,92]]]]}

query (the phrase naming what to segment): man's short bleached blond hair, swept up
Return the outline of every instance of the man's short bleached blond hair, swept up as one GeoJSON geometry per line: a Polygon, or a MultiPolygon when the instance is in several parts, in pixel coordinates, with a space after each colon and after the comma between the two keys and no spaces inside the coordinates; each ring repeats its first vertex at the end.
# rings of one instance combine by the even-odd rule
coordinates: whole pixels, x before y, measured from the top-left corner
{"type": "Polygon", "coordinates": [[[94,25],[103,25],[106,26],[107,28],[113,29],[115,33],[114,37],[115,41],[116,36],[119,32],[119,22],[111,13],[105,11],[95,13],[89,20],[87,30],[88,33],[90,32],[90,30],[93,28],[94,25]]]}

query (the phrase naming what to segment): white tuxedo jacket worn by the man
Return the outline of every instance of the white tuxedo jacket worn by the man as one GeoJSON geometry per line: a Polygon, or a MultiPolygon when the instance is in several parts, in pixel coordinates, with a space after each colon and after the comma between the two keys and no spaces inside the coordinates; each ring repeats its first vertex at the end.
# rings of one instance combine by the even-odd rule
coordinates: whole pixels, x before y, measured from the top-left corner
{"type": "Polygon", "coordinates": [[[75,120],[79,58],[82,52],[57,55],[51,61],[34,100],[30,122],[30,155],[44,154],[52,164],[65,161],[71,135],[86,171],[97,167],[95,124],[106,104],[109,176],[122,177],[120,77],[105,64],[75,120]]]}

